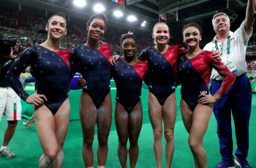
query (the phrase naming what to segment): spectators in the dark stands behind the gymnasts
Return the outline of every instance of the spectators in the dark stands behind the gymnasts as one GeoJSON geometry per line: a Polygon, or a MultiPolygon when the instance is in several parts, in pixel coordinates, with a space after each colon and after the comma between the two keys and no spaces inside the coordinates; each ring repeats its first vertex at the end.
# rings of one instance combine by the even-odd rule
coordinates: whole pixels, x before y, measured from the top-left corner
{"type": "MultiPolygon", "coordinates": [[[[5,30],[3,28],[8,29],[15,29],[19,30],[19,33],[26,33],[26,32],[34,32],[34,33],[41,33],[41,34],[47,34],[45,30],[45,26],[47,25],[47,21],[49,18],[43,16],[37,16],[34,13],[28,13],[28,12],[19,12],[13,9],[7,9],[4,7],[0,7],[0,28],[1,30],[5,30]]],[[[232,25],[231,31],[237,30],[240,25],[232,25]]],[[[67,29],[68,33],[63,38],[71,38],[74,40],[79,39],[80,42],[87,42],[88,32],[87,32],[87,21],[73,21],[67,23],[67,29]]],[[[170,35],[174,36],[170,38],[169,45],[181,45],[185,46],[183,39],[182,39],[182,32],[180,31],[180,35],[175,32],[175,30],[172,30],[170,28],[170,35]]],[[[250,38],[250,41],[248,42],[248,45],[254,45],[256,40],[256,29],[253,30],[253,35],[250,38]]],[[[112,48],[119,49],[120,47],[120,38],[123,33],[127,32],[119,32],[114,31],[108,28],[105,31],[104,36],[102,37],[102,41],[110,44],[112,48]]],[[[146,47],[154,46],[154,39],[152,38],[151,32],[148,32],[148,34],[140,35],[134,33],[138,40],[138,51],[141,52],[146,47]]],[[[213,29],[203,29],[202,34],[202,41],[200,42],[200,47],[203,49],[203,47],[211,41],[215,37],[216,33],[213,29]]],[[[24,49],[26,47],[30,47],[32,45],[37,45],[44,42],[42,39],[35,39],[33,40],[33,43],[30,44],[29,40],[22,39],[22,45],[24,46],[24,49]]],[[[67,49],[72,50],[74,47],[73,45],[67,45],[67,49]]],[[[120,54],[115,52],[112,52],[112,54],[120,54]]],[[[248,65],[248,70],[253,69],[255,70],[255,64],[253,66],[248,65]]]]}

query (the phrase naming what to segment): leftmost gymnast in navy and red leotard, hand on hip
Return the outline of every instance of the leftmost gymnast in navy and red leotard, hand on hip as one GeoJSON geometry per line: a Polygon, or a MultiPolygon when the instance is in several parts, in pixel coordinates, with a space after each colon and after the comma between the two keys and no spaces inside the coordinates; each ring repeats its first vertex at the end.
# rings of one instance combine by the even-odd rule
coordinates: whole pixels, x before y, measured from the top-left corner
{"type": "Polygon", "coordinates": [[[6,76],[19,97],[34,105],[36,131],[44,151],[39,167],[61,167],[64,159],[63,144],[70,116],[70,51],[62,49],[60,42],[67,34],[66,26],[63,13],[51,16],[46,26],[46,42],[24,51],[6,76]],[[23,89],[18,78],[28,65],[33,68],[36,80],[37,91],[32,95],[23,89]]]}

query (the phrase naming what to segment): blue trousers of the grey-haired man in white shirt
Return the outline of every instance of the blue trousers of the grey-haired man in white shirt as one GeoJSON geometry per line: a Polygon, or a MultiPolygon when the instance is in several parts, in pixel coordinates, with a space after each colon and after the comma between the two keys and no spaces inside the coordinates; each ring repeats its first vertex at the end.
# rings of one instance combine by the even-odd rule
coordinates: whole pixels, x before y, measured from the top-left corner
{"type": "MultiPolygon", "coordinates": [[[[222,81],[212,80],[210,92],[214,95],[222,81]]],[[[220,140],[222,159],[233,160],[233,140],[231,128],[231,112],[237,137],[236,156],[247,158],[249,149],[249,119],[251,113],[251,85],[246,74],[240,75],[231,89],[214,103],[214,115],[217,119],[217,134],[220,140]]]]}

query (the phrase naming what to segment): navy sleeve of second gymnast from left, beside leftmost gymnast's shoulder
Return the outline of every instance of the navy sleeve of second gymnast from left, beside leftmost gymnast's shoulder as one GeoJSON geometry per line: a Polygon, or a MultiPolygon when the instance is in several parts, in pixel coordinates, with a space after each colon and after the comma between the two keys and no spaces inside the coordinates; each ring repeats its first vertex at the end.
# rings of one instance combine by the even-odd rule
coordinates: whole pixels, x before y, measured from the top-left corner
{"type": "Polygon", "coordinates": [[[77,49],[74,47],[70,53],[70,76],[69,76],[69,81],[71,81],[74,77],[74,75],[80,71],[79,70],[79,58],[77,58],[77,49]]]}

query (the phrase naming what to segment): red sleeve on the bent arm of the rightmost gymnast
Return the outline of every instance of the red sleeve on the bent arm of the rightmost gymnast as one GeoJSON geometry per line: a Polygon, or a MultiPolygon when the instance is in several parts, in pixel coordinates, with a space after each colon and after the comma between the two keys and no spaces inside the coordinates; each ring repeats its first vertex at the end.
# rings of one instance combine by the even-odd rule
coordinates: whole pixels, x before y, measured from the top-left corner
{"type": "Polygon", "coordinates": [[[217,91],[221,95],[221,97],[223,97],[231,88],[236,78],[233,76],[228,67],[217,58],[214,58],[214,56],[211,56],[211,53],[208,54],[208,62],[211,67],[214,68],[224,79],[221,87],[217,91]]]}

